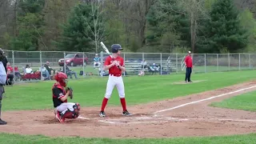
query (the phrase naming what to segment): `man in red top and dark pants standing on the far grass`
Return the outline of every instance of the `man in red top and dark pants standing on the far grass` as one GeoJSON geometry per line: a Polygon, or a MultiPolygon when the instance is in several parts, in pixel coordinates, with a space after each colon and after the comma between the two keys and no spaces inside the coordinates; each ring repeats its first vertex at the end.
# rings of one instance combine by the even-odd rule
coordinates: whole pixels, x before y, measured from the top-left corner
{"type": "Polygon", "coordinates": [[[191,51],[189,51],[189,54],[187,54],[185,58],[185,63],[186,63],[186,78],[185,82],[192,82],[190,79],[191,73],[192,73],[192,67],[193,67],[193,60],[191,57],[191,51]]]}

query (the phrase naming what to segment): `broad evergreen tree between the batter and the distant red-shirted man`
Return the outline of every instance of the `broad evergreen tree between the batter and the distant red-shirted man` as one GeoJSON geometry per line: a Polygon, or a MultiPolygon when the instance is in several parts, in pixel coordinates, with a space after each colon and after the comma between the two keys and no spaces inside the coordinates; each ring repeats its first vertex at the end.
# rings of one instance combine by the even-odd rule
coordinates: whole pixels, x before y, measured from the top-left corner
{"type": "Polygon", "coordinates": [[[176,0],[159,0],[147,15],[146,40],[150,46],[159,46],[170,52],[170,47],[190,46],[190,20],[176,0]]]}

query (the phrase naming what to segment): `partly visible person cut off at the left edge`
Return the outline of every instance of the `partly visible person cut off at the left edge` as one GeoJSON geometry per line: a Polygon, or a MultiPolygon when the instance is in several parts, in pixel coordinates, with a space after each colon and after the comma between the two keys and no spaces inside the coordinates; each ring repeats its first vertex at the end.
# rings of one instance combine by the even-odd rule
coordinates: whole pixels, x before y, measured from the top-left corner
{"type": "Polygon", "coordinates": [[[6,70],[7,58],[0,48],[0,125],[6,125],[7,122],[1,119],[1,108],[2,108],[2,94],[5,93],[4,85],[6,85],[7,80],[7,70],[6,70]]]}

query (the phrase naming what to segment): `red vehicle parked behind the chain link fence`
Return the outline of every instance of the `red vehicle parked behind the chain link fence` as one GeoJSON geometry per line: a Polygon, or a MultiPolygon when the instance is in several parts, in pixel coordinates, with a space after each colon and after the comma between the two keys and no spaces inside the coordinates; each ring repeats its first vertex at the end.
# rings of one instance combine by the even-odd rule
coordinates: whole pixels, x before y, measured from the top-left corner
{"type": "MultiPolygon", "coordinates": [[[[65,57],[65,60],[66,60],[67,66],[78,66],[78,65],[82,65],[83,62],[84,62],[84,66],[88,64],[88,58],[86,54],[84,58],[82,54],[67,54],[65,57]]],[[[58,60],[58,65],[64,66],[64,58],[58,60]]]]}

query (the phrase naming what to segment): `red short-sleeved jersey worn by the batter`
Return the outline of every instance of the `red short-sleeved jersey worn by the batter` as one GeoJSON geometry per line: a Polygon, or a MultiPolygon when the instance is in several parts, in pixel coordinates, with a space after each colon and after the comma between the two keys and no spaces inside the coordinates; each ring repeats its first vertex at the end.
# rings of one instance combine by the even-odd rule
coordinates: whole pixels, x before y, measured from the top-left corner
{"type": "MultiPolygon", "coordinates": [[[[120,66],[124,66],[123,58],[120,56],[117,58],[111,58],[108,56],[104,62],[104,66],[109,66],[114,61],[118,61],[120,66]]],[[[113,75],[122,75],[122,70],[120,70],[118,66],[112,66],[110,67],[109,73],[113,75]]]]}

